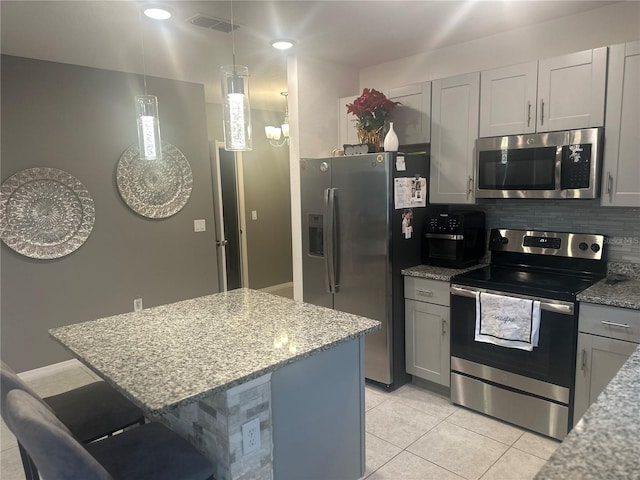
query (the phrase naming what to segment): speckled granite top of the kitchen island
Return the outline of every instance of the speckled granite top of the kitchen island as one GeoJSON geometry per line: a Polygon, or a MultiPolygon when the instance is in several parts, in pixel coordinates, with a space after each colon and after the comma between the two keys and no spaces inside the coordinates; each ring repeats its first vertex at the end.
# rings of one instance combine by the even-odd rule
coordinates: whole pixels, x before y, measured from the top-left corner
{"type": "Polygon", "coordinates": [[[156,415],[379,328],[369,318],[238,289],[49,333],[156,415]]]}

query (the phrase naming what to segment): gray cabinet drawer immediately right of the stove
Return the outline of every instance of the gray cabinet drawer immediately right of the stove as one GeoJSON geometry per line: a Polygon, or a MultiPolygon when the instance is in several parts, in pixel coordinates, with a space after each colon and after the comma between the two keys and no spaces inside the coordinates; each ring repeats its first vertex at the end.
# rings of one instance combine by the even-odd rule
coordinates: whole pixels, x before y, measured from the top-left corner
{"type": "Polygon", "coordinates": [[[578,329],[584,333],[640,343],[640,310],[581,303],[578,329]]]}

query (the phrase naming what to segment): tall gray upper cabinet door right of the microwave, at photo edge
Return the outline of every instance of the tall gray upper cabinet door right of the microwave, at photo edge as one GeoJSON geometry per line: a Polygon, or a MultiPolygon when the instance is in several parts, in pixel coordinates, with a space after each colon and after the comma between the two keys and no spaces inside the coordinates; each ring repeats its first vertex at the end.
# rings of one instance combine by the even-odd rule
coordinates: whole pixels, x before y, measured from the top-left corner
{"type": "Polygon", "coordinates": [[[640,41],[609,49],[601,204],[640,207],[640,41]]]}

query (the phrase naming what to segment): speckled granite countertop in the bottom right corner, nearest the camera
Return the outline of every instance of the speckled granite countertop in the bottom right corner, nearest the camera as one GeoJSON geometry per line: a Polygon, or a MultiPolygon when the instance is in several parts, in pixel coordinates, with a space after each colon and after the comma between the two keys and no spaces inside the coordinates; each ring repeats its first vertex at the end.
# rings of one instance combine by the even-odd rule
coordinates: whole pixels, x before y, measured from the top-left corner
{"type": "Polygon", "coordinates": [[[564,439],[537,480],[638,478],[640,347],[564,439]]]}

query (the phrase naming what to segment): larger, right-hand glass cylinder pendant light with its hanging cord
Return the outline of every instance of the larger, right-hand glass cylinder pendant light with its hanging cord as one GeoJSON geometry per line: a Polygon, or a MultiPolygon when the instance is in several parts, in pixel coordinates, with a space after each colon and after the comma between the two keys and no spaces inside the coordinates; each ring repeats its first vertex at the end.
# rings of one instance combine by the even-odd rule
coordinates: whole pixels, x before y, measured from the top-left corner
{"type": "Polygon", "coordinates": [[[251,108],[249,105],[249,68],[236,65],[236,43],[231,0],[231,45],[233,65],[220,67],[222,81],[222,114],[224,149],[227,151],[252,150],[251,108]]]}

